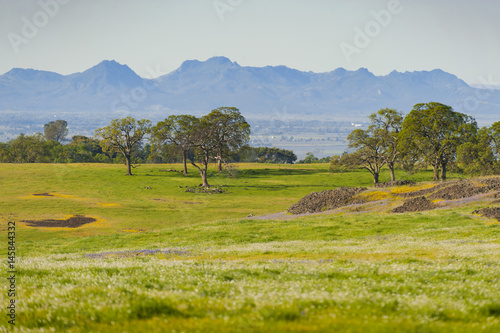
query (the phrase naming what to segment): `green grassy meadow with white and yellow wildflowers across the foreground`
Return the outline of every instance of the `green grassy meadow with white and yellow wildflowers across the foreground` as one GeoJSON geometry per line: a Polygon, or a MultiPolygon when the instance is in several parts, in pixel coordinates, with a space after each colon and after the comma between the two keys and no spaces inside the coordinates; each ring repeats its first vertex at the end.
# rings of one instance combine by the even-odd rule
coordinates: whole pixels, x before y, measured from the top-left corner
{"type": "MultiPolygon", "coordinates": [[[[141,165],[127,177],[122,165],[0,164],[2,234],[16,221],[14,330],[500,331],[500,223],[472,214],[486,203],[275,218],[310,192],[370,186],[371,175],[326,164],[211,166],[209,183],[225,193],[201,194],[185,192],[201,182],[194,168],[160,171],[180,168],[141,165]],[[20,222],[76,214],[97,221],[20,222]]],[[[12,331],[3,317],[0,332],[12,331]]]]}

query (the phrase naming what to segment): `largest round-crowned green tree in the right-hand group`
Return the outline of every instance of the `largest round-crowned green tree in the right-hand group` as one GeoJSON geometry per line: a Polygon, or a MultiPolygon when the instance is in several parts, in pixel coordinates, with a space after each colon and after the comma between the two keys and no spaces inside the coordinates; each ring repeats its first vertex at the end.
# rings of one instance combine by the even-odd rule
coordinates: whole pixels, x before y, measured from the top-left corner
{"type": "Polygon", "coordinates": [[[447,166],[456,158],[457,148],[473,138],[477,124],[472,117],[441,103],[416,104],[405,117],[400,148],[418,156],[434,168],[434,180],[446,180],[447,166]]]}

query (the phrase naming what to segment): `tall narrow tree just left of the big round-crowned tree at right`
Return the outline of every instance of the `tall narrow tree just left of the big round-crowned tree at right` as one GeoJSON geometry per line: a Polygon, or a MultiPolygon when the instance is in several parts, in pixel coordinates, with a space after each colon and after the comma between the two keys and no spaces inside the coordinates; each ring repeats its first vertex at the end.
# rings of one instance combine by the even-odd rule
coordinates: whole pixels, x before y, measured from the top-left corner
{"type": "Polygon", "coordinates": [[[403,124],[403,114],[394,109],[381,109],[370,115],[371,130],[381,139],[382,156],[391,171],[391,181],[395,181],[394,167],[399,158],[399,133],[403,124]]]}

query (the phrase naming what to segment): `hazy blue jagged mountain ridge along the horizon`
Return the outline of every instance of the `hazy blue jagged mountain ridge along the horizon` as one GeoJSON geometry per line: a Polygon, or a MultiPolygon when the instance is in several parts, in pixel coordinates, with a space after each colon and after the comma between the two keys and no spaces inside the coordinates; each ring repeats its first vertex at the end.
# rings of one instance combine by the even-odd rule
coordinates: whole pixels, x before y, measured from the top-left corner
{"type": "Polygon", "coordinates": [[[235,106],[250,118],[286,109],[297,117],[353,119],[380,108],[409,112],[416,103],[437,101],[473,117],[498,115],[500,91],[486,92],[439,69],[385,76],[366,68],[313,73],[214,57],[187,60],[169,74],[144,79],[127,65],[105,60],[71,75],[14,68],[0,76],[0,112],[123,111],[147,117],[152,110],[200,114],[235,106]]]}

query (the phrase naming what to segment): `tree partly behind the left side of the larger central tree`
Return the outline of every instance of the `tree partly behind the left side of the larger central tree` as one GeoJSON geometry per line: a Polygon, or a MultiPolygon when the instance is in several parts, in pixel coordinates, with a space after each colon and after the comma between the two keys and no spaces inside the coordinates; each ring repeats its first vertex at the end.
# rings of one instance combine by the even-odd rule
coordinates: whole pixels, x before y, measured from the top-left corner
{"type": "Polygon", "coordinates": [[[173,145],[182,155],[184,174],[187,175],[187,154],[193,146],[193,130],[198,119],[190,115],[172,115],[152,128],[153,149],[160,151],[165,145],[173,145]]]}

